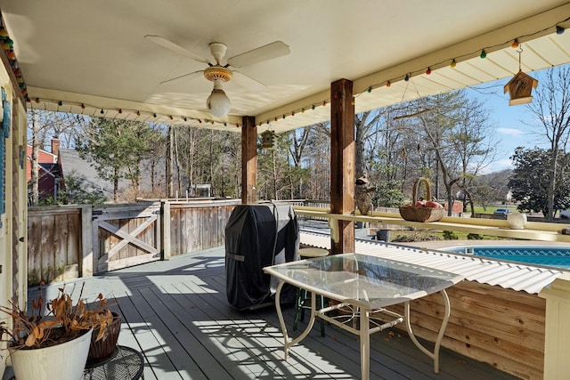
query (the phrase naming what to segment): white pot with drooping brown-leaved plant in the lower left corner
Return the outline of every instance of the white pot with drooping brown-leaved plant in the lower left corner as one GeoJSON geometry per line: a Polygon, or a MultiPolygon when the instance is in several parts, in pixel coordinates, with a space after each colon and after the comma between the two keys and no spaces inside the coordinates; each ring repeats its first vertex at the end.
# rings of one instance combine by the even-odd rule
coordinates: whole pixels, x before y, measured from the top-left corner
{"type": "Polygon", "coordinates": [[[90,306],[82,287],[74,304],[61,287],[56,298],[45,303],[40,295],[28,309],[31,311],[20,310],[14,303],[0,306],[0,311],[12,318],[12,326],[0,322],[0,341],[8,343],[16,378],[80,378],[94,329],[98,330],[95,340],[100,340],[112,322],[107,299],[100,294],[90,306]]]}

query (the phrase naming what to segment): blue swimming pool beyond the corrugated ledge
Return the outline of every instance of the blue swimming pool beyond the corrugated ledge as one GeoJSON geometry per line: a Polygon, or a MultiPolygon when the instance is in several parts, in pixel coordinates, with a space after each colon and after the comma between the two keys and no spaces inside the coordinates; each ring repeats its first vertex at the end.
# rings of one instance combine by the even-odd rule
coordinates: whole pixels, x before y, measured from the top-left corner
{"type": "Polygon", "coordinates": [[[570,269],[570,247],[544,246],[463,246],[445,251],[476,255],[516,263],[545,265],[570,269]]]}

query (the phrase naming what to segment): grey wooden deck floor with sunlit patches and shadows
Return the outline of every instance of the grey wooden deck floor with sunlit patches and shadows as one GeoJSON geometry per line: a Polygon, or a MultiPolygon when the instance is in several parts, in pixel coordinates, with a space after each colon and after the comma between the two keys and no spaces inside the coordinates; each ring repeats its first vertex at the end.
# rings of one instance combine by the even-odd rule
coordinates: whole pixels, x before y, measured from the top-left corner
{"type": "MultiPolygon", "coordinates": [[[[123,316],[119,344],[140,350],[149,379],[354,379],[360,377],[358,337],[318,324],[283,360],[281,328],[273,306],[236,311],[225,296],[224,247],[146,263],[82,279],[84,296],[114,295],[123,316]]],[[[57,294],[53,284],[42,291],[57,294]]],[[[34,296],[30,291],[30,297],[34,296]]],[[[289,335],[292,308],[284,310],[289,335]]],[[[374,379],[516,379],[515,376],[442,349],[440,373],[399,330],[371,336],[374,379]]]]}

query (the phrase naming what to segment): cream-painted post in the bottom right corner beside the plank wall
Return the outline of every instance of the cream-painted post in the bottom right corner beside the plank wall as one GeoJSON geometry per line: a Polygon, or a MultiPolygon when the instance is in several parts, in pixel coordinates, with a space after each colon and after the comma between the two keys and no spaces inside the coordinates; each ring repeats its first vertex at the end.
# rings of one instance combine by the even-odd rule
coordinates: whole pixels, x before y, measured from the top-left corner
{"type": "Polygon", "coordinates": [[[570,378],[570,274],[555,279],[550,287],[542,289],[539,296],[546,299],[543,378],[570,378]]]}

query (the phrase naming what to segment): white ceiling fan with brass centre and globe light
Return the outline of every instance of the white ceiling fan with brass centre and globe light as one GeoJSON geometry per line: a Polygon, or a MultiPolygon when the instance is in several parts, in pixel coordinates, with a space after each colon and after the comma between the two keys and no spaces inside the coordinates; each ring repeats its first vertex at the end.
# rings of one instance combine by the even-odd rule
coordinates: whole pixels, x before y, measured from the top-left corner
{"type": "Polygon", "coordinates": [[[213,42],[209,44],[210,53],[212,53],[212,56],[214,57],[214,63],[212,63],[210,60],[191,53],[182,46],[175,44],[162,36],[146,35],[144,38],[175,53],[183,54],[194,61],[208,64],[208,68],[206,69],[184,74],[180,77],[173,77],[160,82],[160,84],[172,84],[180,79],[191,79],[193,77],[203,75],[209,81],[214,82],[214,89],[212,90],[212,93],[210,93],[210,96],[208,96],[206,106],[208,107],[209,112],[215,117],[223,117],[227,115],[232,108],[230,99],[224,93],[224,82],[233,79],[238,85],[241,85],[253,92],[257,92],[265,88],[264,84],[257,82],[255,79],[248,77],[239,71],[230,69],[230,67],[242,68],[290,53],[289,45],[284,44],[281,41],[275,41],[271,44],[265,44],[264,46],[257,47],[256,49],[250,50],[246,53],[241,53],[233,56],[232,58],[228,58],[226,63],[223,64],[227,46],[219,42],[213,42]]]}

